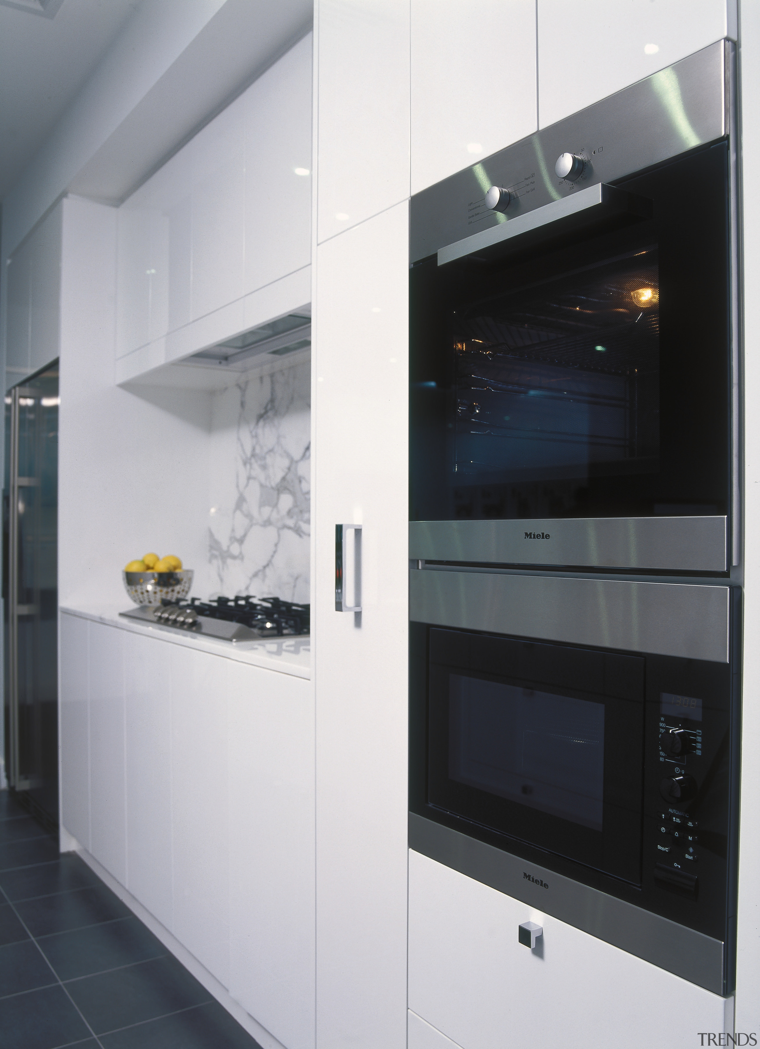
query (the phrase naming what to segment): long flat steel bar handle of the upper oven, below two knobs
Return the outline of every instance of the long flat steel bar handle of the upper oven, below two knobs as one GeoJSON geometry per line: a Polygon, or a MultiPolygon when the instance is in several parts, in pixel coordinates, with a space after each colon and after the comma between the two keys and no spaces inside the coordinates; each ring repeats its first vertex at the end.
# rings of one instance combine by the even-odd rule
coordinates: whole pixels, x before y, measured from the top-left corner
{"type": "Polygon", "coordinates": [[[509,250],[532,247],[549,237],[574,233],[596,227],[625,226],[652,217],[652,201],[616,186],[597,183],[586,190],[571,193],[508,218],[506,222],[473,233],[439,249],[438,264],[445,265],[466,255],[477,255],[484,261],[502,258],[509,250]]]}

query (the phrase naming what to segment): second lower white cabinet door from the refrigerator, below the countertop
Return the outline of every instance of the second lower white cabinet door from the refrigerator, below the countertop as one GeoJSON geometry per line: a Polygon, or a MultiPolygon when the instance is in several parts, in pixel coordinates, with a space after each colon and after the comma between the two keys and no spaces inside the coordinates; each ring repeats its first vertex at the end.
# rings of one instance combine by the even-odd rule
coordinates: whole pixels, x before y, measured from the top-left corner
{"type": "Polygon", "coordinates": [[[127,879],[124,807],[124,641],[114,626],[89,624],[90,849],[114,878],[127,879]]]}

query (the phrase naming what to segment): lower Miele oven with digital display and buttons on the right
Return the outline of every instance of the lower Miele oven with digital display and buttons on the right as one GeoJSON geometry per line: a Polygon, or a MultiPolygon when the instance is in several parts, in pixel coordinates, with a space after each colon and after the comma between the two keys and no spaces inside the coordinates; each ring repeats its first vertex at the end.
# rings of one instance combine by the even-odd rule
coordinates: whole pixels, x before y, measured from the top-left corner
{"type": "Polygon", "coordinates": [[[410,848],[729,993],[740,588],[409,582],[410,848]]]}

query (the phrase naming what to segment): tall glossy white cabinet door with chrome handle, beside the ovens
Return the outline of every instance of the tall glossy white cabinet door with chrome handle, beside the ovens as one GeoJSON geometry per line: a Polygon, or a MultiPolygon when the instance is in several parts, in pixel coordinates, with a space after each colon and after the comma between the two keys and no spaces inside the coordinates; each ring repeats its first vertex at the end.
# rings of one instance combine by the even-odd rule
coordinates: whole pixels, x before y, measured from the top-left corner
{"type": "Polygon", "coordinates": [[[406,1044],[407,258],[405,202],[317,249],[320,1049],[406,1044]],[[335,611],[344,521],[363,524],[361,614],[335,611]]]}

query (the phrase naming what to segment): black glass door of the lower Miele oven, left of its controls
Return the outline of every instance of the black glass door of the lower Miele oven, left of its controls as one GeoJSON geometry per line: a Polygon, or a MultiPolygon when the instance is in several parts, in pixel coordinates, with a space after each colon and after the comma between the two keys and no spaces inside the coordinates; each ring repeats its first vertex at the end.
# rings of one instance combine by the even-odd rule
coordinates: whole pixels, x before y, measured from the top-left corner
{"type": "Polygon", "coordinates": [[[430,629],[427,804],[641,881],[645,660],[430,629]]]}

